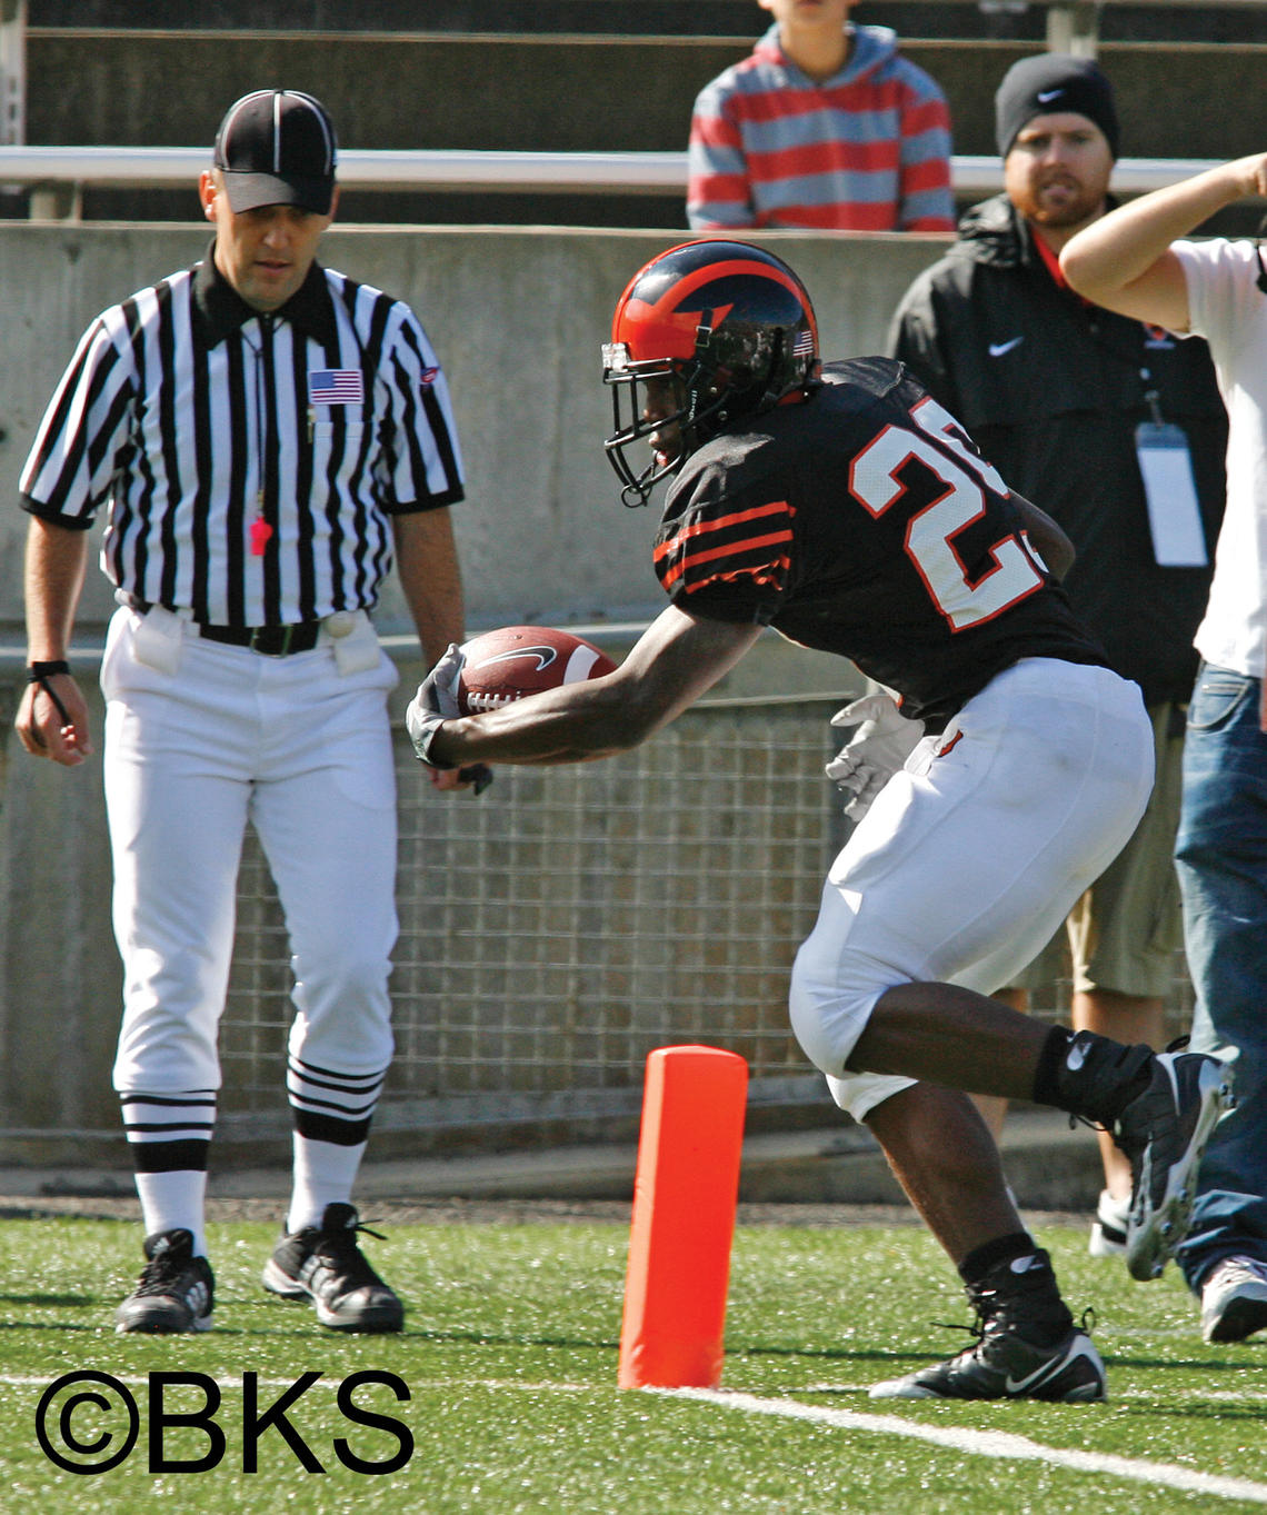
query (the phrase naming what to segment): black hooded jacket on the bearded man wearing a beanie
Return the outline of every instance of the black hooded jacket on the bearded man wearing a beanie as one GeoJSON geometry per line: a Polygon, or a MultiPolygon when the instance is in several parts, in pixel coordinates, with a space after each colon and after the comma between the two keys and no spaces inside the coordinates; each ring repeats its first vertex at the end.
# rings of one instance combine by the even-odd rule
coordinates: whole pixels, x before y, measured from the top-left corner
{"type": "Polygon", "coordinates": [[[1062,289],[1006,195],[968,211],[959,241],[911,285],[890,351],[971,433],[1014,489],[1071,538],[1075,611],[1144,698],[1185,701],[1209,568],[1152,554],[1135,426],[1184,429],[1212,559],[1228,418],[1203,341],[1179,339],[1062,289]]]}

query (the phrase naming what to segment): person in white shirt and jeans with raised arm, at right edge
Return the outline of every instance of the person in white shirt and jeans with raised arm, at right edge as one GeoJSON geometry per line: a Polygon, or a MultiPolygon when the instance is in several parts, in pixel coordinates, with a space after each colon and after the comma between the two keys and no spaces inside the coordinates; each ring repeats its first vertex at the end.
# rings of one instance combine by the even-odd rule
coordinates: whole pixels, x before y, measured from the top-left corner
{"type": "Polygon", "coordinates": [[[1061,255],[1087,298],[1206,338],[1231,424],[1176,842],[1193,1050],[1237,1059],[1238,1107],[1211,1138],[1178,1254],[1206,1341],[1267,1329],[1267,264],[1252,241],[1187,238],[1250,195],[1267,195],[1267,153],[1144,195],[1061,255]]]}

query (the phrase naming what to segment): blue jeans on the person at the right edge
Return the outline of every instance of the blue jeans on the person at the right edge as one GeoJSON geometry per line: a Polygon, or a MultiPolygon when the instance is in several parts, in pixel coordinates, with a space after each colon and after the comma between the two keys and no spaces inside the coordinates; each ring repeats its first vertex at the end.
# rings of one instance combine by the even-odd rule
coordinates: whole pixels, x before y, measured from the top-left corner
{"type": "Polygon", "coordinates": [[[1179,1267],[1200,1289],[1232,1254],[1267,1260],[1267,733],[1261,682],[1202,664],[1188,706],[1175,859],[1196,986],[1193,1051],[1235,1051],[1237,1109],[1206,1148],[1179,1267]]]}

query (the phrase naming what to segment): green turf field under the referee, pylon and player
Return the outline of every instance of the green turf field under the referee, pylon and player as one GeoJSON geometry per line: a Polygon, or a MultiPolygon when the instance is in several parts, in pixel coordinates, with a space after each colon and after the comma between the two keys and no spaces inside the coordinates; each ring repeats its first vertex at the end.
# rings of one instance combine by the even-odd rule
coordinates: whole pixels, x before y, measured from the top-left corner
{"type": "MultiPolygon", "coordinates": [[[[1115,1262],[1085,1256],[1085,1232],[1040,1235],[1070,1304],[1096,1309],[1106,1404],[868,1400],[868,1383],[968,1339],[935,1324],[967,1310],[935,1245],[909,1226],[741,1224],[723,1392],[697,1400],[615,1388],[620,1221],[393,1227],[367,1245],[408,1300],[406,1332],[344,1339],[259,1289],[271,1226],[211,1227],[214,1332],[138,1338],[112,1329],[136,1271],[135,1224],[5,1220],[0,1510],[91,1515],[168,1500],[212,1515],[1138,1515],[1267,1504],[1267,1338],[1206,1347],[1173,1270],[1134,1285],[1115,1262]],[[133,1450],[108,1473],[64,1471],[36,1439],[50,1385],[85,1371],[118,1380],[138,1406],[133,1450]],[[215,1432],[156,1430],[152,1376],[164,1373],[192,1379],[162,1386],[168,1418],[197,1417],[220,1395],[217,1467],[174,1467],[208,1460],[215,1432]],[[373,1377],[344,1386],[358,1373],[373,1377]],[[293,1441],[265,1424],[244,1471],[247,1395],[267,1421],[303,1374],[321,1377],[286,1410],[293,1441]],[[152,1457],[167,1467],[150,1471],[152,1457]],[[358,1460],[397,1467],[358,1471],[358,1460]]],[[[127,1429],[118,1389],[74,1392],[85,1389],[108,1407],[62,1413],[71,1389],[61,1391],[45,1413],[50,1444],[65,1421],[80,1444],[102,1442],[92,1457],[109,1457],[127,1429]]]]}

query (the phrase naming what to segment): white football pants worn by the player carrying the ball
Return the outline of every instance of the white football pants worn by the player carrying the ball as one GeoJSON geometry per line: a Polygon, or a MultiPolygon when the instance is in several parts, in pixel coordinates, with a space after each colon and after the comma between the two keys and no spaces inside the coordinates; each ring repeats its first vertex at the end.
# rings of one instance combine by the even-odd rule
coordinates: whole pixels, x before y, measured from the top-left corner
{"type": "Polygon", "coordinates": [[[797,953],[791,1020],[856,1120],[911,1085],[846,1062],[899,983],[993,994],[1046,945],[1126,844],[1152,789],[1138,688],[1026,659],[926,738],[832,865],[797,953]]]}

